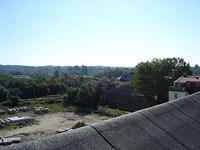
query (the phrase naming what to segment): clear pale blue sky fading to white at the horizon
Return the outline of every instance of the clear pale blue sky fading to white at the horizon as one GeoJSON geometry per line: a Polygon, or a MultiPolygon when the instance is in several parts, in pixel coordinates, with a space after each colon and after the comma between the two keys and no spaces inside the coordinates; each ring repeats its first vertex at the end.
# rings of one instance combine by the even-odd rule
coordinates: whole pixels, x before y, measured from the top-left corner
{"type": "Polygon", "coordinates": [[[199,0],[0,0],[0,64],[200,64],[199,0]]]}

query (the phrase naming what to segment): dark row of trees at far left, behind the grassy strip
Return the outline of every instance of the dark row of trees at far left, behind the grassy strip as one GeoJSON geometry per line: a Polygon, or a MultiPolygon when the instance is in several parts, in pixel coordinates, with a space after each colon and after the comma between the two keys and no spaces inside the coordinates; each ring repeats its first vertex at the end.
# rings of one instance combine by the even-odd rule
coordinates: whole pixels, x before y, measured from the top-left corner
{"type": "Polygon", "coordinates": [[[66,86],[61,79],[25,79],[4,74],[0,75],[0,100],[5,101],[9,95],[27,99],[60,94],[66,92],[66,86]]]}

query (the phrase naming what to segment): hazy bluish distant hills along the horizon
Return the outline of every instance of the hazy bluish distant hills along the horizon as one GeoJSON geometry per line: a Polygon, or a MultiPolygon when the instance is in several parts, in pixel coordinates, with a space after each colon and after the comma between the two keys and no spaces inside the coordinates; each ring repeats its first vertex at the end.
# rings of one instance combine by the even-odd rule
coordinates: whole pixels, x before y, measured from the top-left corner
{"type": "Polygon", "coordinates": [[[130,74],[133,68],[107,67],[107,66],[21,66],[0,65],[0,74],[9,73],[14,76],[30,78],[51,78],[55,72],[58,75],[99,75],[117,78],[123,74],[130,74]]]}

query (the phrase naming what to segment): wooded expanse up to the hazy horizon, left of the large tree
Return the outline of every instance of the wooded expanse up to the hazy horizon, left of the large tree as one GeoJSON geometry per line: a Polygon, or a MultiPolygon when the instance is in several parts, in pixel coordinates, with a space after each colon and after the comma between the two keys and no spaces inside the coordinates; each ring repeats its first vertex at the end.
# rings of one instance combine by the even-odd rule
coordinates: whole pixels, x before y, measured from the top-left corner
{"type": "MultiPolygon", "coordinates": [[[[117,67],[0,65],[0,87],[2,87],[0,88],[0,95],[1,89],[7,91],[4,98],[0,100],[6,101],[11,96],[19,96],[21,99],[36,99],[47,95],[65,94],[64,106],[78,105],[84,109],[96,109],[104,99],[105,91],[120,85],[116,77],[130,72],[130,68],[117,67]],[[2,73],[2,70],[12,75],[2,73]],[[36,72],[37,77],[35,77],[36,72]],[[46,73],[50,76],[46,77],[46,73]],[[43,75],[44,77],[42,77],[43,75]]],[[[11,103],[11,100],[9,100],[9,103],[11,103]]],[[[55,102],[53,99],[47,99],[41,100],[40,103],[55,102]]]]}

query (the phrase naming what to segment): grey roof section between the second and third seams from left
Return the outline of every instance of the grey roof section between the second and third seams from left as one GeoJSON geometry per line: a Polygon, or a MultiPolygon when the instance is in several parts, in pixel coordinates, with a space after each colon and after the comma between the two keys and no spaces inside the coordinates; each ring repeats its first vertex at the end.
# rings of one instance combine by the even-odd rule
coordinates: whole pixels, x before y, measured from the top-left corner
{"type": "Polygon", "coordinates": [[[145,109],[140,113],[188,149],[200,149],[200,124],[168,103],[145,109]]]}

